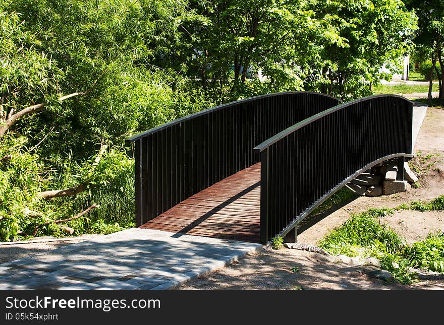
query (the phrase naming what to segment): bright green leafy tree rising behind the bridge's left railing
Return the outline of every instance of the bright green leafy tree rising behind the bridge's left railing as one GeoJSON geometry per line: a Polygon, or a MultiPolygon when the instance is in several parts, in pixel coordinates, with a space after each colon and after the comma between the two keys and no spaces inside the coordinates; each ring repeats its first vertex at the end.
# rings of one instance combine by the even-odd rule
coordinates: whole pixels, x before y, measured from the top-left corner
{"type": "Polygon", "coordinates": [[[189,7],[182,22],[187,45],[166,55],[175,59],[165,64],[180,62],[181,70],[221,102],[302,90],[318,38],[328,29],[299,1],[195,0],[189,7]],[[259,72],[266,77],[260,82],[254,77],[259,72]]]}

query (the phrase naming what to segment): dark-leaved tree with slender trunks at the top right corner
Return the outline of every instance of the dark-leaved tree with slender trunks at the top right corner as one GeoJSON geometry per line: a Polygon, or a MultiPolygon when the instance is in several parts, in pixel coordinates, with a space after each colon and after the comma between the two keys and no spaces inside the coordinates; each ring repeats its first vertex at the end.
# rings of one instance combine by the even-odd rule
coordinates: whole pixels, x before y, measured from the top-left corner
{"type": "Polygon", "coordinates": [[[418,30],[414,42],[426,52],[432,62],[429,72],[429,101],[432,99],[432,75],[436,71],[439,100],[444,106],[444,3],[440,0],[405,0],[406,6],[416,11],[418,30]],[[436,69],[439,62],[439,70],[436,69]]]}

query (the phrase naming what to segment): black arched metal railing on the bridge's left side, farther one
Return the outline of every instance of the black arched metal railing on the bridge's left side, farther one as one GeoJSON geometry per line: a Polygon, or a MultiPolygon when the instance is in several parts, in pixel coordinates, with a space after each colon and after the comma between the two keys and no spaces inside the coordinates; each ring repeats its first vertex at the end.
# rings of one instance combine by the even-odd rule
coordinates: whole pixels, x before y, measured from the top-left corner
{"type": "Polygon", "coordinates": [[[313,92],[252,97],[210,108],[127,139],[134,143],[136,226],[259,162],[253,148],[338,104],[313,92]]]}

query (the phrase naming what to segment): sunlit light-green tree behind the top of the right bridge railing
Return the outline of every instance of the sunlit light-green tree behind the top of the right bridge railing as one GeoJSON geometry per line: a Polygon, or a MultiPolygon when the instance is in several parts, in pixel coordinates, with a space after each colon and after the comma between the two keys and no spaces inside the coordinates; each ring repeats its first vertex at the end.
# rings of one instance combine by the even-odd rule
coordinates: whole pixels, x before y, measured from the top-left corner
{"type": "Polygon", "coordinates": [[[412,49],[416,17],[401,0],[319,1],[316,8],[315,18],[328,22],[343,40],[322,44],[322,67],[313,73],[325,93],[342,99],[371,94],[372,85],[392,77],[381,68],[397,72],[412,49]]]}

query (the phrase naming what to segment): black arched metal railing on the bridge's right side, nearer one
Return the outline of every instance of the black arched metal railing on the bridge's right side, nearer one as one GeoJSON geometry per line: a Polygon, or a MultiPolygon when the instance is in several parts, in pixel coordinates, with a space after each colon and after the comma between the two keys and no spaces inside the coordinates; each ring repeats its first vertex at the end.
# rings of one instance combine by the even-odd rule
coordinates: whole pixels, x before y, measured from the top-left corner
{"type": "Polygon", "coordinates": [[[308,117],[255,147],[261,161],[261,242],[296,229],[378,162],[412,157],[412,115],[413,103],[404,97],[365,97],[308,117]]]}

